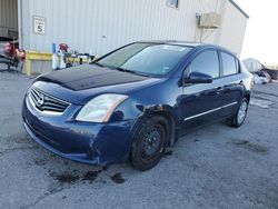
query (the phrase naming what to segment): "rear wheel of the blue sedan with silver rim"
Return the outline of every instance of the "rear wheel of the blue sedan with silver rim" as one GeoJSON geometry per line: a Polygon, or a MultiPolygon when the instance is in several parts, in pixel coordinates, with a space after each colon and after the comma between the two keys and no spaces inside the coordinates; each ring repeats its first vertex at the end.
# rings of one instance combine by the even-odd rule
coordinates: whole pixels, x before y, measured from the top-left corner
{"type": "Polygon", "coordinates": [[[240,102],[240,106],[237,110],[237,112],[228,119],[228,125],[235,128],[239,128],[244,125],[247,111],[248,111],[248,100],[247,98],[244,98],[240,102]]]}

